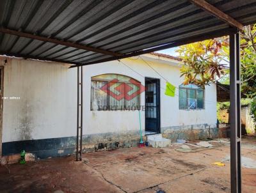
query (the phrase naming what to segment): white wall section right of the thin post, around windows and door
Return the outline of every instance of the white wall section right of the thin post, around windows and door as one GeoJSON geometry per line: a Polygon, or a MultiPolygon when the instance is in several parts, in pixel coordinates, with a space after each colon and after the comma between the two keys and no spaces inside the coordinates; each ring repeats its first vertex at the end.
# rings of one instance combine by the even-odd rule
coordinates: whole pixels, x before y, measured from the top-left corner
{"type": "MultiPolygon", "coordinates": [[[[205,109],[202,110],[179,110],[179,90],[176,91],[175,97],[170,97],[164,95],[166,81],[160,77],[154,70],[152,70],[148,65],[145,65],[140,59],[124,59],[123,62],[125,65],[128,65],[132,70],[139,72],[145,77],[153,77],[161,79],[161,127],[170,127],[170,126],[182,126],[182,125],[195,125],[195,124],[204,124],[209,125],[216,124],[217,114],[216,114],[216,86],[211,84],[211,86],[205,87],[205,109]]],[[[154,69],[157,70],[165,79],[171,82],[173,85],[179,87],[183,81],[183,77],[180,77],[180,67],[179,66],[170,66],[167,64],[154,63],[153,61],[148,62],[154,69]]],[[[105,64],[97,64],[86,66],[86,82],[90,81],[90,77],[94,75],[99,75],[101,73],[121,73],[123,75],[130,76],[138,81],[145,83],[144,77],[134,73],[127,66],[119,63],[118,61],[113,61],[105,64]]],[[[86,86],[85,86],[86,87],[86,86]]],[[[86,89],[86,93],[90,93],[90,88],[86,89]]],[[[90,96],[88,96],[90,98],[90,96]]],[[[145,95],[141,95],[141,105],[145,104],[145,95]]],[[[105,125],[107,130],[115,131],[118,130],[118,127],[128,129],[128,128],[137,128],[138,127],[138,118],[136,118],[137,112],[120,112],[118,113],[108,111],[89,111],[90,110],[90,101],[86,101],[86,120],[90,120],[90,127],[93,128],[97,125],[97,129],[103,129],[102,125],[105,125]],[[134,115],[135,114],[135,115],[134,115]],[[95,119],[94,116],[97,116],[95,119]],[[100,122],[99,122],[99,119],[100,122]],[[118,120],[119,125],[115,124],[115,119],[118,120]],[[114,121],[114,122],[113,122],[114,121]],[[101,125],[102,124],[102,125],[101,125]]],[[[145,120],[145,114],[142,112],[141,120],[145,120]]],[[[143,121],[143,128],[145,128],[143,121]]],[[[93,132],[93,130],[92,130],[93,132]]]]}

